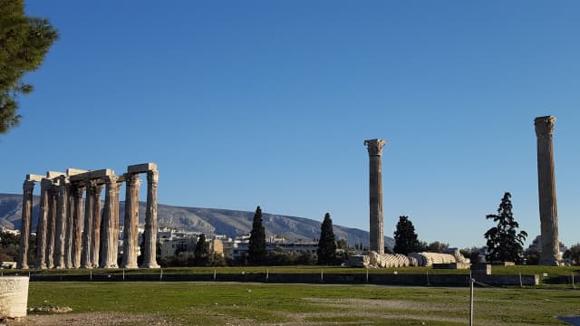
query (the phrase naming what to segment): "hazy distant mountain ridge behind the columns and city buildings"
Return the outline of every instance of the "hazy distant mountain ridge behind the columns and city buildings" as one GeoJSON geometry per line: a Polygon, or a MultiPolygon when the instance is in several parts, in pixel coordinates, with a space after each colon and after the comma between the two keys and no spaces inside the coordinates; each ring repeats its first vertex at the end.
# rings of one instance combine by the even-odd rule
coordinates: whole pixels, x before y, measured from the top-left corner
{"type": "MultiPolygon", "coordinates": [[[[33,230],[36,230],[38,218],[39,197],[34,196],[33,230]]],[[[145,222],[145,206],[140,202],[139,222],[145,222]]],[[[125,203],[120,203],[121,225],[125,211],[125,203]]],[[[22,214],[22,195],[0,194],[0,226],[10,229],[20,229],[22,214]]],[[[180,206],[158,206],[159,226],[166,226],[179,230],[204,233],[206,235],[247,235],[252,228],[254,212],[245,212],[219,208],[198,208],[180,206]]],[[[317,221],[304,217],[279,216],[264,214],[266,235],[283,235],[291,241],[312,241],[320,234],[320,224],[317,221]]],[[[333,225],[337,239],[345,239],[349,245],[369,245],[369,233],[361,229],[333,225]]],[[[385,236],[385,245],[392,248],[394,240],[385,236]]]]}

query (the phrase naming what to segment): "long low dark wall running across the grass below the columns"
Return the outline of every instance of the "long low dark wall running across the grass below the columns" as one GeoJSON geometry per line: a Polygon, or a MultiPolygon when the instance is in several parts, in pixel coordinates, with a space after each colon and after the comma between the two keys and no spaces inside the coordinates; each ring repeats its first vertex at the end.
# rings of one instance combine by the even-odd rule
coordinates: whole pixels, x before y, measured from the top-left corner
{"type": "MultiPolygon", "coordinates": [[[[519,275],[474,275],[488,285],[519,285],[519,275]]],[[[522,275],[522,285],[537,285],[538,275],[522,275]]],[[[409,273],[195,273],[109,275],[32,275],[32,282],[252,282],[467,286],[467,274],[409,273]],[[367,278],[368,277],[368,278],[367,278]]]]}

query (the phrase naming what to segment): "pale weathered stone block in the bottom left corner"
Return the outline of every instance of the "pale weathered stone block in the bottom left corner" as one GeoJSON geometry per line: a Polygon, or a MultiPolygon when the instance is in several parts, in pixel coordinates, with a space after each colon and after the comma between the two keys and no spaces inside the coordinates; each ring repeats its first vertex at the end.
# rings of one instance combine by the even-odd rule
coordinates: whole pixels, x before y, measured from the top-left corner
{"type": "Polygon", "coordinates": [[[26,317],[28,277],[0,277],[0,319],[26,317]]]}

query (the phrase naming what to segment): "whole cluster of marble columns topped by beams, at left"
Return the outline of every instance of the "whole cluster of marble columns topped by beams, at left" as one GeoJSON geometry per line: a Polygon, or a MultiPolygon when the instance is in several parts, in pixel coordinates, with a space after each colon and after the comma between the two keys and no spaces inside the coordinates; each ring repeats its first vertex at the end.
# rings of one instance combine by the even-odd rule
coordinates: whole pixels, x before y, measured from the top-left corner
{"type": "Polygon", "coordinates": [[[159,172],[153,163],[128,168],[122,176],[111,169],[67,170],[46,177],[28,175],[24,180],[19,268],[29,268],[34,183],[41,196],[36,228],[37,268],[117,268],[120,217],[119,188],[126,183],[121,268],[159,268],[156,261],[157,187],[159,172]],[[75,172],[76,171],[76,172],[75,172]],[[143,234],[143,262],[139,254],[140,173],[147,173],[147,209],[143,234]],[[105,190],[102,207],[102,190],[105,190]],[[83,194],[84,196],[83,200],[83,194]]]}

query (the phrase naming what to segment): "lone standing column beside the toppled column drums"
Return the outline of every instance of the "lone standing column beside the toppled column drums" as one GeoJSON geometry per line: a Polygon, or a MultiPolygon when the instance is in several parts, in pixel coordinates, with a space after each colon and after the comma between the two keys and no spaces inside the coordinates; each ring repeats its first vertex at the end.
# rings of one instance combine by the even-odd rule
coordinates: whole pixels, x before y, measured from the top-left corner
{"type": "Polygon", "coordinates": [[[384,254],[384,226],[382,220],[382,139],[364,140],[369,151],[370,250],[384,254]]]}

